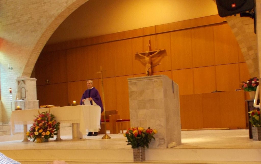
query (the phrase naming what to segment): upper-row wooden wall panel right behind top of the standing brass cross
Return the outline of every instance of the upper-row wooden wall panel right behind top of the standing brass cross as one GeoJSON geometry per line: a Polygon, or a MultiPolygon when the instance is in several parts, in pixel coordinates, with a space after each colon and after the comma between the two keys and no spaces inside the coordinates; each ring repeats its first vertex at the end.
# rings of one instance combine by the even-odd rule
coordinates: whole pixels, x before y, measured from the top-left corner
{"type": "Polygon", "coordinates": [[[116,45],[114,42],[104,43],[98,45],[98,65],[102,66],[103,78],[115,76],[115,49],[116,45]]]}

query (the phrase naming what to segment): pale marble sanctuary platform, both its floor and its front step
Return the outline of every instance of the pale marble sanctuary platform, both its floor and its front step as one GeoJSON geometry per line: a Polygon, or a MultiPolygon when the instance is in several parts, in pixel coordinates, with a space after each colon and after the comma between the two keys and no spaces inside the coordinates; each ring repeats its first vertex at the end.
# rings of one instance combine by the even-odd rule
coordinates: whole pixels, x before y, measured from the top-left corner
{"type": "MultiPolygon", "coordinates": [[[[84,136],[73,141],[71,135],[62,135],[62,141],[51,139],[47,143],[0,142],[0,152],[22,164],[46,164],[64,160],[68,164],[133,163],[131,146],[126,145],[123,134],[84,136]],[[44,154],[39,157],[27,154],[44,154]],[[55,152],[55,154],[54,154],[55,152]],[[102,159],[101,159],[102,155],[102,159]]],[[[157,134],[155,135],[157,137],[157,134]]],[[[181,131],[182,144],[173,148],[145,149],[146,163],[197,164],[260,164],[261,141],[249,139],[248,130],[192,130],[181,131]]],[[[1,137],[0,137],[1,139],[1,137]]],[[[1,162],[0,162],[1,163],[1,162]]],[[[136,162],[137,163],[137,162],[136,162]]]]}

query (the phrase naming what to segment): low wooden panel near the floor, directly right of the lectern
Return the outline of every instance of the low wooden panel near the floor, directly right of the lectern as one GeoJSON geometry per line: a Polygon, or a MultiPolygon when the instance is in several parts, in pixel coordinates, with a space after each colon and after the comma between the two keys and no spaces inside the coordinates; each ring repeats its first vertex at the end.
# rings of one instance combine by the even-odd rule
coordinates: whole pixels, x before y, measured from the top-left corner
{"type": "Polygon", "coordinates": [[[198,129],[203,127],[202,95],[180,96],[181,129],[198,129]]]}

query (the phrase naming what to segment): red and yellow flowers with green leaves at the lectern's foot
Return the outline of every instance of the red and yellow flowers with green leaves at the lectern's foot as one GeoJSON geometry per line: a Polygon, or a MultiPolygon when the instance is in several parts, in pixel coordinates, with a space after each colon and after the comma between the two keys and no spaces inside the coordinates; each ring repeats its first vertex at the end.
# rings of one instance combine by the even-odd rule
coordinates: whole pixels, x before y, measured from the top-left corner
{"type": "Polygon", "coordinates": [[[151,129],[150,127],[148,129],[144,129],[142,127],[132,127],[129,128],[126,133],[123,135],[127,137],[128,141],[127,145],[131,145],[132,149],[137,147],[147,147],[149,148],[149,143],[152,139],[155,140],[153,137],[154,134],[157,133],[156,129],[151,129]]]}

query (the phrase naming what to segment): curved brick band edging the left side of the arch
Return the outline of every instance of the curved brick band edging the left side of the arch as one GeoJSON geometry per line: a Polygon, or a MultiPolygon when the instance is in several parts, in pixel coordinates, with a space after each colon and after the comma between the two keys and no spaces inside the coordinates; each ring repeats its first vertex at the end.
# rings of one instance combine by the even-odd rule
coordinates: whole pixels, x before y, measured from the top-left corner
{"type": "Polygon", "coordinates": [[[22,72],[22,76],[30,77],[33,71],[34,65],[41,53],[41,50],[45,46],[46,42],[49,40],[51,35],[54,33],[56,28],[78,7],[87,2],[88,0],[75,0],[71,4],[69,4],[57,17],[52,21],[52,23],[45,29],[45,31],[41,34],[39,40],[34,45],[31,53],[29,54],[29,58],[25,64],[24,70],[22,72]]]}

